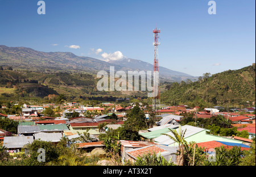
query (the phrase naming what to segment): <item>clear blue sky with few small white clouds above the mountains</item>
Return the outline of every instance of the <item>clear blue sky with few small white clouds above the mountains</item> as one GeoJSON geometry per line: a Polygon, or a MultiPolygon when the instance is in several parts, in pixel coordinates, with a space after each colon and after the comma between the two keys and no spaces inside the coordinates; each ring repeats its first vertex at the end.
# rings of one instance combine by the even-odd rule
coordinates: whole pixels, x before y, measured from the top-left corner
{"type": "Polygon", "coordinates": [[[100,60],[153,64],[152,29],[161,29],[159,65],[191,74],[219,73],[255,62],[255,1],[0,0],[0,45],[72,52],[100,60]],[[98,49],[98,50],[97,50],[98,49]]]}

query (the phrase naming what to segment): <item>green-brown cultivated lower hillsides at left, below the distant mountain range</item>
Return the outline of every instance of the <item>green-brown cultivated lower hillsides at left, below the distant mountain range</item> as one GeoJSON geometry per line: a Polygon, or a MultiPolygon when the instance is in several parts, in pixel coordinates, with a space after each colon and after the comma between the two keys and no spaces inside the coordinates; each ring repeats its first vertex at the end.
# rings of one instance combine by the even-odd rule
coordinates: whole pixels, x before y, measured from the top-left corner
{"type": "Polygon", "coordinates": [[[115,101],[115,98],[146,96],[143,91],[98,91],[96,75],[82,71],[0,70],[0,100],[44,100],[64,94],[69,101],[94,99],[115,101]]]}

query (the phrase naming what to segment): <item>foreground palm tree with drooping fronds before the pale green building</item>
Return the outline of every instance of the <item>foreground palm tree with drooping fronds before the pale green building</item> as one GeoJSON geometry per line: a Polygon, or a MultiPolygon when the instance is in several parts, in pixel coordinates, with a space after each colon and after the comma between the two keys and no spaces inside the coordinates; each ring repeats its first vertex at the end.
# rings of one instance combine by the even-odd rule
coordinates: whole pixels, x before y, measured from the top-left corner
{"type": "Polygon", "coordinates": [[[192,145],[189,145],[187,141],[185,141],[184,136],[185,136],[185,132],[187,131],[187,129],[185,129],[185,131],[181,131],[181,126],[179,126],[179,132],[176,131],[176,129],[172,130],[169,128],[169,130],[172,132],[172,134],[174,136],[171,136],[170,134],[165,134],[164,135],[168,136],[169,138],[171,138],[171,140],[174,140],[175,142],[177,142],[178,144],[178,149],[177,149],[177,153],[176,153],[176,163],[179,166],[183,166],[183,165],[188,165],[189,159],[192,159],[191,157],[191,151],[192,151],[192,145]]]}

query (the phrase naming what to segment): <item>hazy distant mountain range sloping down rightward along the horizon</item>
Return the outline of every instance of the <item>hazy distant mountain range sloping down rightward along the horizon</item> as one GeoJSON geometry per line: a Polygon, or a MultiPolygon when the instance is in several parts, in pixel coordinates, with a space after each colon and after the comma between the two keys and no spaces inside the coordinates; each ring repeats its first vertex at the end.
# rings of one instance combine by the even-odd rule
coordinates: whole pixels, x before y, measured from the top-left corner
{"type": "MultiPolygon", "coordinates": [[[[76,56],[71,52],[40,52],[31,48],[5,45],[0,45],[0,65],[37,71],[85,71],[91,74],[100,70],[109,71],[110,66],[114,66],[115,71],[153,70],[152,64],[132,58],[106,62],[92,57],[76,56]]],[[[160,79],[169,82],[197,80],[197,77],[162,66],[159,66],[159,75],[160,79]]]]}

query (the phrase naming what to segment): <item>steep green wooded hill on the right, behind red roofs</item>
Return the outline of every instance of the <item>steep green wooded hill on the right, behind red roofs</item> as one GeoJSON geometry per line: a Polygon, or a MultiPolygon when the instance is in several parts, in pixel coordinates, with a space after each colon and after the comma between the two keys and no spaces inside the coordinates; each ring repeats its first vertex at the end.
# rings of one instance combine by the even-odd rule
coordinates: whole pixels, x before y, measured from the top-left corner
{"type": "Polygon", "coordinates": [[[238,70],[204,74],[199,81],[192,83],[172,83],[167,91],[160,94],[162,103],[188,104],[199,106],[241,105],[255,102],[255,64],[238,70]]]}

